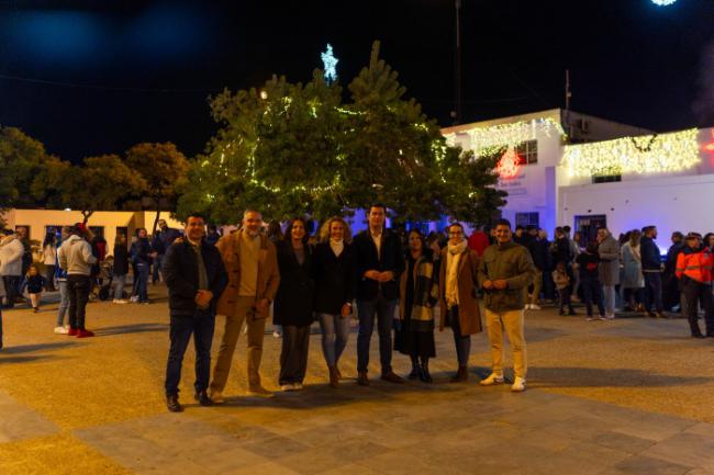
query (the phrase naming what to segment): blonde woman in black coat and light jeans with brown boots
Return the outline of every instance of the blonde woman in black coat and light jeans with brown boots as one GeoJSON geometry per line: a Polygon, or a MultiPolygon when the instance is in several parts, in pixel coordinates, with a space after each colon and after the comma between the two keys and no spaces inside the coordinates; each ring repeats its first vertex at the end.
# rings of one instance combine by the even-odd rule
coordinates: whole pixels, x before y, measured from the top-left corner
{"type": "Polygon", "coordinates": [[[322,227],[315,246],[315,314],[322,328],[322,352],[330,370],[330,385],[337,387],[337,362],[347,346],[354,298],[355,262],[349,226],[333,217],[322,227]]]}

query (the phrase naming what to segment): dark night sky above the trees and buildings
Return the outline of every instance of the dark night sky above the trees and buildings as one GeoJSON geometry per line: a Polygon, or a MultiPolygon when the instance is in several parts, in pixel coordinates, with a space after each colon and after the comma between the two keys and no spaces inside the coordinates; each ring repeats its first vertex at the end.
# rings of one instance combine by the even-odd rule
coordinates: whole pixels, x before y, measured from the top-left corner
{"type": "MultiPolygon", "coordinates": [[[[714,0],[462,0],[464,121],[565,104],[658,132],[714,125],[714,0]]],[[[0,0],[0,124],[64,159],[140,142],[203,150],[207,98],[274,72],[308,81],[331,43],[343,86],[373,39],[408,97],[454,109],[454,0],[0,0]]],[[[347,99],[347,94],[346,94],[347,99]]]]}

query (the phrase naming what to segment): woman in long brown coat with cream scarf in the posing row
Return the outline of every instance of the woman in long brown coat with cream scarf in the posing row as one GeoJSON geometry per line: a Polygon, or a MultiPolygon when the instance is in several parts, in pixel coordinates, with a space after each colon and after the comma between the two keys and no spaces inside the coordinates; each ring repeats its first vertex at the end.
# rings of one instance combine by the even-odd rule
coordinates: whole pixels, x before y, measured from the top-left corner
{"type": "Polygon", "coordinates": [[[467,381],[471,335],[481,331],[481,314],[476,295],[478,257],[469,249],[464,226],[448,227],[448,245],[442,250],[439,270],[439,331],[451,327],[459,369],[451,383],[467,381]]]}

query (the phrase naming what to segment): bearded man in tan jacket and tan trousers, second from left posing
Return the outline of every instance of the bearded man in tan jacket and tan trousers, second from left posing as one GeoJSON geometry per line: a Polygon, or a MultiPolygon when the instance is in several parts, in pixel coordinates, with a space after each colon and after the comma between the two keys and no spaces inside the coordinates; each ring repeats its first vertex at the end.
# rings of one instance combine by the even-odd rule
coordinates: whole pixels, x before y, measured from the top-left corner
{"type": "Polygon", "coordinates": [[[219,240],[216,247],[228,273],[228,285],[217,303],[216,314],[225,315],[225,330],[213,370],[211,399],[223,402],[223,389],[231,371],[231,361],[243,323],[248,328],[249,396],[270,397],[272,393],[260,384],[263,336],[280,274],[276,248],[260,234],[263,216],[254,210],[243,214],[243,227],[219,240]]]}

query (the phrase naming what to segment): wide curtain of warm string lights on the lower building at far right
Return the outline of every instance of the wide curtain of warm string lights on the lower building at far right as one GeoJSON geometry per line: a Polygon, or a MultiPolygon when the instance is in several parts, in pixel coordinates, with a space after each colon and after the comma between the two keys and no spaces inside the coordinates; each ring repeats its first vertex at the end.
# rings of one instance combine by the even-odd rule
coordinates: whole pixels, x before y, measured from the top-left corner
{"type": "Polygon", "coordinates": [[[570,177],[663,173],[700,163],[698,129],[624,137],[565,147],[562,166],[570,177]]]}

